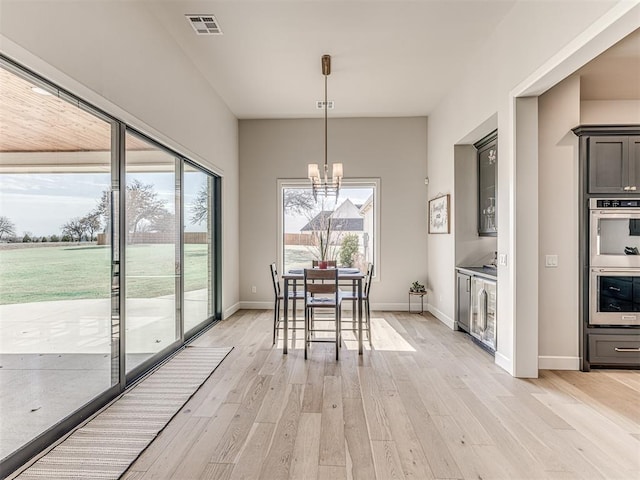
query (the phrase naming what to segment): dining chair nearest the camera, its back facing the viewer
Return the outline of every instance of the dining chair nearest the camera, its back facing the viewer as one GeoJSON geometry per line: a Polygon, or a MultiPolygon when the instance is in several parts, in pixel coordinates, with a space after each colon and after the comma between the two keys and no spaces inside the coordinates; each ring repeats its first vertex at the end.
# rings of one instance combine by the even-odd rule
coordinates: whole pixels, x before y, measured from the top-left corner
{"type": "Polygon", "coordinates": [[[340,357],[340,309],[342,304],[342,292],[338,288],[338,269],[305,268],[304,289],[304,358],[307,358],[309,343],[335,342],[336,360],[338,360],[340,357]],[[334,329],[315,328],[315,322],[312,321],[313,313],[319,309],[333,310],[333,318],[331,320],[323,319],[322,324],[333,321],[334,329]],[[334,338],[318,338],[315,334],[319,332],[333,332],[335,336],[334,338]]]}

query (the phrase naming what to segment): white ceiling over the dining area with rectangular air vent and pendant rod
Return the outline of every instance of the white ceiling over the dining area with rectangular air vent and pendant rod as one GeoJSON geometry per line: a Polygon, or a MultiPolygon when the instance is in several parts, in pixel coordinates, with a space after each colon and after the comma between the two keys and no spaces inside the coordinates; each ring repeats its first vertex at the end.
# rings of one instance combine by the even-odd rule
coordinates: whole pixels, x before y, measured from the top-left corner
{"type": "MultiPolygon", "coordinates": [[[[134,0],[135,1],[135,0],[134,0]]],[[[516,0],[142,2],[240,119],[427,115],[516,0]],[[223,35],[196,35],[212,14],[223,35]]]]}

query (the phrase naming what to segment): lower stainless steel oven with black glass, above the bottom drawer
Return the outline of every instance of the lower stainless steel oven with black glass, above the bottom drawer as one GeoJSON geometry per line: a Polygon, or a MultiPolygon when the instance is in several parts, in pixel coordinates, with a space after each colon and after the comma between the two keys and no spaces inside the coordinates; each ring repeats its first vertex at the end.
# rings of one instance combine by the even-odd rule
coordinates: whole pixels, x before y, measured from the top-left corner
{"type": "Polygon", "coordinates": [[[640,269],[591,268],[589,323],[640,325],[640,269]]]}

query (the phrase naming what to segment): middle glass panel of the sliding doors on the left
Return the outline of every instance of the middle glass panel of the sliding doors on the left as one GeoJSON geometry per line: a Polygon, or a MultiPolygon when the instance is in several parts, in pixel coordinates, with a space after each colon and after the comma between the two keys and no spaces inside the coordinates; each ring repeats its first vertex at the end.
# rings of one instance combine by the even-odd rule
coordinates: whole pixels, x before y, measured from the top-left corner
{"type": "Polygon", "coordinates": [[[127,133],[126,371],[180,340],[179,183],[176,157],[127,133]],[[177,215],[178,213],[178,215],[177,215]]]}

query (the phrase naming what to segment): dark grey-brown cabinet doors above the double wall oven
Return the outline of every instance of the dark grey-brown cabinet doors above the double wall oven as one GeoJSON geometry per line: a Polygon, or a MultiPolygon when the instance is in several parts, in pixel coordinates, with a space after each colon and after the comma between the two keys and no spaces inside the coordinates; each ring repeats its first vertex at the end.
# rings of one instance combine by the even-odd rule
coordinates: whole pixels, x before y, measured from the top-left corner
{"type": "Polygon", "coordinates": [[[588,193],[640,193],[640,136],[587,139],[588,193]]]}

